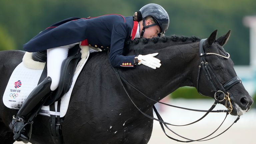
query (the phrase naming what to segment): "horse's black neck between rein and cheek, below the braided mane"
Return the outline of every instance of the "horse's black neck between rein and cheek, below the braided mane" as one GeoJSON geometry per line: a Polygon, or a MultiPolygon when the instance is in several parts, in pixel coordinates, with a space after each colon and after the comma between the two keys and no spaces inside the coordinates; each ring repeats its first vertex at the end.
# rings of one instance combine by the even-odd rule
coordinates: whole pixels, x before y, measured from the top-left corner
{"type": "MultiPolygon", "coordinates": [[[[136,88],[155,100],[161,100],[179,87],[194,87],[199,64],[198,45],[199,43],[195,42],[159,49],[157,58],[161,60],[160,68],[153,70],[140,65],[133,71],[122,71],[122,75],[125,75],[136,88]]],[[[151,103],[155,102],[151,101],[151,103]]]]}

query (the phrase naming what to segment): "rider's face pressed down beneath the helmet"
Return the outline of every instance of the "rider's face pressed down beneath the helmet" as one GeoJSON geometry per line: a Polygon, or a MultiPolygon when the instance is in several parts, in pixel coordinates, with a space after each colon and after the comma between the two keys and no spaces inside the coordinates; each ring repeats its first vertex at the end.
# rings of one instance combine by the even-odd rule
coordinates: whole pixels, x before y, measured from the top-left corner
{"type": "MultiPolygon", "coordinates": [[[[140,21],[140,33],[143,29],[143,22],[140,21]]],[[[151,25],[152,24],[152,21],[150,19],[148,20],[145,20],[145,25],[148,26],[148,25],[151,25]]],[[[146,28],[145,31],[144,31],[144,34],[143,34],[143,37],[144,38],[153,38],[153,37],[157,37],[157,34],[160,32],[160,27],[155,25],[155,26],[152,26],[152,27],[149,27],[149,28],[146,28]]]]}

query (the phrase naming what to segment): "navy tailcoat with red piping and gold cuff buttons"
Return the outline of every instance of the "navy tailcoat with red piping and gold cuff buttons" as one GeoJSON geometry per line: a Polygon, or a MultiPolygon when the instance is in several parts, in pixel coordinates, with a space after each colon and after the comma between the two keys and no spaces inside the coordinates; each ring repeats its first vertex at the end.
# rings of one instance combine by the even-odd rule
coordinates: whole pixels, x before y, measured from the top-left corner
{"type": "Polygon", "coordinates": [[[133,67],[135,56],[122,55],[124,42],[131,39],[132,28],[132,16],[71,17],[49,26],[24,44],[23,48],[28,52],[37,52],[87,39],[91,46],[102,50],[110,48],[112,66],[133,67]]]}

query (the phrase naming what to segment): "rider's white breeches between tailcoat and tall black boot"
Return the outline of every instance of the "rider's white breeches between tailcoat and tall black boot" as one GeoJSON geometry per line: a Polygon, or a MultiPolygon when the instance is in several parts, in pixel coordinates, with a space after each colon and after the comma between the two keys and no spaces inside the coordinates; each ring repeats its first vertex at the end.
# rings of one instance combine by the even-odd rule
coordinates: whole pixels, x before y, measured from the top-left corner
{"type": "Polygon", "coordinates": [[[68,50],[76,44],[80,42],[47,50],[47,76],[52,79],[50,87],[52,91],[59,86],[61,64],[68,57],[68,50]]]}

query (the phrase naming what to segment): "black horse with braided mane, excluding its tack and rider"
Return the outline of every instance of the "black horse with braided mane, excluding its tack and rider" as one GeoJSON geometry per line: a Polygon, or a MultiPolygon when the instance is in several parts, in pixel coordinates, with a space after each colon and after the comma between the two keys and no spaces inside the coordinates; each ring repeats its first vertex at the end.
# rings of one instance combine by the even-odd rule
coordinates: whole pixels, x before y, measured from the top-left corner
{"type": "MultiPolygon", "coordinates": [[[[216,40],[214,31],[204,44],[206,52],[226,55],[222,46],[230,31],[216,40]]],[[[161,100],[182,86],[196,87],[198,76],[199,41],[196,37],[162,37],[136,39],[126,44],[127,55],[159,54],[162,66],[151,69],[140,65],[134,69],[118,69],[118,72],[134,87],[155,100],[161,100]]],[[[0,52],[0,95],[2,96],[14,68],[22,61],[24,51],[0,52]]],[[[225,84],[236,76],[232,60],[209,55],[205,57],[220,83],[225,84]]],[[[199,91],[214,98],[214,92],[203,71],[200,72],[199,91]]],[[[154,101],[142,96],[124,84],[131,99],[140,110],[153,115],[154,101]]],[[[242,115],[253,103],[242,83],[237,83],[230,93],[232,115],[242,115]]],[[[224,97],[221,95],[222,98],[224,97]]],[[[2,98],[2,97],[1,97],[2,98]]],[[[223,101],[223,105],[224,105],[223,101]]],[[[210,106],[209,106],[210,107],[210,106]]],[[[8,109],[0,100],[0,142],[12,144],[13,133],[8,128],[17,110],[8,109]]],[[[48,132],[49,117],[38,115],[34,119],[30,142],[53,143],[48,132]]],[[[68,111],[63,123],[66,144],[146,144],[153,128],[153,120],[142,115],[127,97],[115,72],[108,62],[107,52],[92,53],[74,86],[68,111]]]]}

